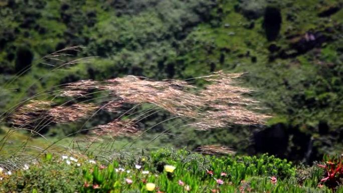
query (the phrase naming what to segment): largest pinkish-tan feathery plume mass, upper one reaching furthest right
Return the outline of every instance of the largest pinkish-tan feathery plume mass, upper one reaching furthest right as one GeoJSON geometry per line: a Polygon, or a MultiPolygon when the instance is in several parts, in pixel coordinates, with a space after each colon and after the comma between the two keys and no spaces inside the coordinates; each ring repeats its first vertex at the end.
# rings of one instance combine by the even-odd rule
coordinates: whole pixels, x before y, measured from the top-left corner
{"type": "Polygon", "coordinates": [[[234,85],[235,80],[242,75],[219,71],[198,77],[209,83],[201,90],[186,81],[153,81],[144,77],[126,76],[103,82],[85,80],[71,83],[64,88],[64,92],[77,90],[79,94],[91,89],[109,91],[110,97],[114,99],[103,106],[104,110],[116,112],[123,103],[150,103],[176,116],[192,118],[194,122],[189,126],[201,130],[226,127],[231,123],[263,124],[269,116],[248,109],[258,103],[244,96],[252,90],[234,85]]]}

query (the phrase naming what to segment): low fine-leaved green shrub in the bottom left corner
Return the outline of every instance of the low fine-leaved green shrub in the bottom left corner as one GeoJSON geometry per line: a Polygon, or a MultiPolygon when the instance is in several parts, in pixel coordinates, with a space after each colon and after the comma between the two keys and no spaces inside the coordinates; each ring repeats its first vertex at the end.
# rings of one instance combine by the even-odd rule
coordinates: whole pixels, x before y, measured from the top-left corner
{"type": "MultiPolygon", "coordinates": [[[[83,160],[79,160],[83,162],[83,160]]],[[[29,165],[28,169],[3,175],[1,192],[74,192],[82,185],[82,169],[71,161],[67,164],[60,156],[47,154],[44,159],[29,165]]]]}

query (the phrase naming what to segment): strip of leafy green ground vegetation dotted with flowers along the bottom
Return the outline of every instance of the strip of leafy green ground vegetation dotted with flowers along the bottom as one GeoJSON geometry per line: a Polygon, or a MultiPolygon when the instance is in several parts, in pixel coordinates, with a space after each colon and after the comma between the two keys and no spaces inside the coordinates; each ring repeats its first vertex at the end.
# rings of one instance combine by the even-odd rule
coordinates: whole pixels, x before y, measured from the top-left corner
{"type": "MultiPolygon", "coordinates": [[[[296,168],[286,160],[266,154],[204,156],[186,150],[160,149],[150,155],[89,156],[93,158],[46,154],[33,164],[12,170],[11,175],[4,170],[0,189],[30,193],[331,192],[326,186],[318,186],[322,177],[320,167],[296,168]]],[[[336,190],[341,191],[339,187],[336,190]]]]}

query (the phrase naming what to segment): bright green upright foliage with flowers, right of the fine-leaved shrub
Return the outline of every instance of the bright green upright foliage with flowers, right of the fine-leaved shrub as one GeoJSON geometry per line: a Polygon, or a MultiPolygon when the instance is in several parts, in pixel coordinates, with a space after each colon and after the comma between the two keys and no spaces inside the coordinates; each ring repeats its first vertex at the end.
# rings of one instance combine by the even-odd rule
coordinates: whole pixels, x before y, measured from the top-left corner
{"type": "Polygon", "coordinates": [[[161,149],[147,159],[140,157],[131,164],[127,163],[122,162],[121,158],[114,160],[106,168],[84,168],[83,176],[86,182],[81,192],[147,192],[147,182],[155,183],[162,192],[187,191],[188,187],[189,192],[207,192],[217,188],[224,192],[234,192],[243,184],[247,186],[245,188],[249,186],[254,190],[264,187],[269,190],[281,188],[284,191],[286,187],[274,188],[268,176],[276,175],[280,180],[295,175],[295,168],[291,163],[267,155],[216,157],[190,153],[186,150],[175,152],[161,149]],[[134,163],[139,164],[141,168],[135,168],[134,163]],[[165,165],[173,165],[176,169],[172,173],[166,172],[165,165]],[[143,170],[149,171],[149,174],[144,174],[143,170]],[[210,174],[209,171],[213,173],[210,174]],[[224,180],[224,185],[219,185],[216,179],[224,180]],[[249,182],[242,181],[245,179],[249,182]]]}

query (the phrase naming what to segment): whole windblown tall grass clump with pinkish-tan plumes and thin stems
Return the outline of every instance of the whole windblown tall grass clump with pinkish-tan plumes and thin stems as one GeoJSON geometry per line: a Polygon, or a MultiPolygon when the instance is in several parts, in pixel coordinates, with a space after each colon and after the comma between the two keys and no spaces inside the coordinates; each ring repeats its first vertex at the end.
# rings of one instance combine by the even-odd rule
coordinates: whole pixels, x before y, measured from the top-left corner
{"type": "MultiPolygon", "coordinates": [[[[70,57],[67,53],[78,49],[80,47],[63,49],[43,57],[40,63],[53,66],[50,73],[54,73],[88,62],[88,58],[60,59],[70,57]]],[[[81,80],[24,98],[1,118],[12,128],[9,135],[13,131],[28,130],[33,135],[43,136],[54,125],[79,123],[79,128],[68,136],[86,133],[91,141],[103,140],[103,137],[139,137],[161,122],[174,119],[181,120],[179,127],[198,130],[225,128],[230,124],[263,124],[268,116],[251,110],[257,108],[257,101],[246,97],[252,90],[237,86],[237,79],[242,75],[219,71],[194,78],[206,83],[202,88],[187,80],[152,80],[130,75],[101,81],[81,80]],[[149,108],[140,110],[144,105],[149,108]],[[140,127],[141,120],[161,111],[170,116],[150,128],[140,127]],[[103,112],[112,114],[113,118],[89,126],[90,119],[103,112]]]]}

